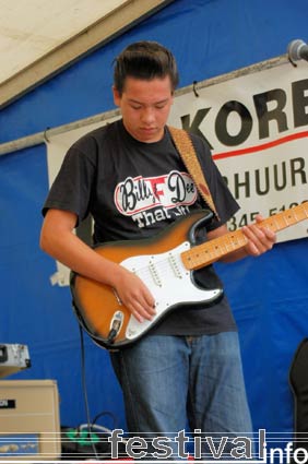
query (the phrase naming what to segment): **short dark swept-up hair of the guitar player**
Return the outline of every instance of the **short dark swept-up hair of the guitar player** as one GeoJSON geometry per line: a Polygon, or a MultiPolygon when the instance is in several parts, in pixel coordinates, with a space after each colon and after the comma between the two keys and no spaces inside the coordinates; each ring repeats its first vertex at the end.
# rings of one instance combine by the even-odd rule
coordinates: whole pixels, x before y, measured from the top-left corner
{"type": "Polygon", "coordinates": [[[178,85],[178,71],[173,53],[156,41],[129,45],[116,59],[114,84],[121,95],[128,76],[151,81],[169,75],[171,91],[178,85]]]}

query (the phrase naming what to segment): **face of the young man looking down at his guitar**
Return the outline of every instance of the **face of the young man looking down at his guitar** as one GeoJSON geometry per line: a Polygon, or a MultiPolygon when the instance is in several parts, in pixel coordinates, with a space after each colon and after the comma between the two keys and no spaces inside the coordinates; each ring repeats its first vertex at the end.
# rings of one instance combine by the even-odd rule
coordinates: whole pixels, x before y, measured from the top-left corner
{"type": "Polygon", "coordinates": [[[122,95],[114,88],[114,99],[134,139],[152,143],[163,138],[174,100],[169,76],[151,81],[127,78],[122,95]]]}

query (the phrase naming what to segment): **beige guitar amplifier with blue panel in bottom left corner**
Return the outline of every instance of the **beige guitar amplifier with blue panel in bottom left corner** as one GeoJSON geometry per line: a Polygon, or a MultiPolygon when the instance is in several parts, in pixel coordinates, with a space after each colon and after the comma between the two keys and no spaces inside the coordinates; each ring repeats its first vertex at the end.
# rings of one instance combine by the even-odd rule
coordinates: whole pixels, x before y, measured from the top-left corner
{"type": "Polygon", "coordinates": [[[54,380],[0,380],[0,462],[61,456],[59,396],[54,380]]]}

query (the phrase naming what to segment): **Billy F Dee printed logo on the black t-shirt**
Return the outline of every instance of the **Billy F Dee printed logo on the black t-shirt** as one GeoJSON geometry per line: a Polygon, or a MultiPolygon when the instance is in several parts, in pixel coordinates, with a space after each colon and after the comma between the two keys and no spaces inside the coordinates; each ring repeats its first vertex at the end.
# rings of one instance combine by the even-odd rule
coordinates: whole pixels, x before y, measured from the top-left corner
{"type": "Polygon", "coordinates": [[[163,221],[170,210],[187,214],[196,202],[197,189],[187,172],[173,170],[157,177],[127,177],[115,189],[115,204],[118,211],[132,216],[139,227],[143,227],[145,213],[155,209],[155,222],[163,221]],[[183,209],[182,209],[183,207],[183,209]]]}

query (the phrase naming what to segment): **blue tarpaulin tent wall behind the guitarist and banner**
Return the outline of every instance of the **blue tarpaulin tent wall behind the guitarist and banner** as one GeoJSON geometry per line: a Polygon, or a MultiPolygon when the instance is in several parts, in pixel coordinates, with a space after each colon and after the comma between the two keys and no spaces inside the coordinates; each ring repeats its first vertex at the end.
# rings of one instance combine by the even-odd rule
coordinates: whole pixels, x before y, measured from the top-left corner
{"type": "MultiPolygon", "coordinates": [[[[112,109],[111,62],[131,41],[169,47],[186,86],[285,53],[294,38],[307,39],[307,0],[176,0],[4,108],[0,143],[112,109]]],[[[79,328],[69,289],[50,285],[55,262],[38,248],[47,190],[44,145],[0,158],[0,342],[28,345],[33,366],[12,379],[56,379],[61,424],[78,425],[86,420],[79,328]]],[[[239,325],[256,429],[293,428],[287,374],[308,334],[307,246],[307,238],[289,241],[259,259],[217,265],[239,325]]],[[[108,411],[125,427],[108,354],[86,337],[85,356],[92,417],[108,411]]]]}

